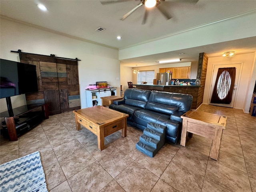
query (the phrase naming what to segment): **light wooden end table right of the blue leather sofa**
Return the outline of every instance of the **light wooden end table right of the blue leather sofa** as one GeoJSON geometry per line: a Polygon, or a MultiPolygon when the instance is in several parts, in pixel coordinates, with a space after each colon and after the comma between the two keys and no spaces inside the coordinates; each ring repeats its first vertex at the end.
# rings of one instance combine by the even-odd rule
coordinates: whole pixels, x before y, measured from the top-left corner
{"type": "Polygon", "coordinates": [[[188,132],[210,138],[213,140],[210,157],[218,160],[222,131],[226,128],[227,117],[190,110],[181,118],[183,120],[180,145],[186,145],[188,132]]]}

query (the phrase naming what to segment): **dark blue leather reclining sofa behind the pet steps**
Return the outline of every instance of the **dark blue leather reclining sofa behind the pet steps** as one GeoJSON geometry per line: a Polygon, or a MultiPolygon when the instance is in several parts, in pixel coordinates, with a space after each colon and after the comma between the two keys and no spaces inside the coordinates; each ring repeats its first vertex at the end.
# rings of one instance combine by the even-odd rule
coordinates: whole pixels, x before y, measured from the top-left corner
{"type": "Polygon", "coordinates": [[[189,94],[126,89],[123,100],[113,101],[109,108],[128,114],[127,124],[144,130],[149,122],[166,126],[166,141],[176,144],[180,139],[182,118],[191,109],[189,94]]]}

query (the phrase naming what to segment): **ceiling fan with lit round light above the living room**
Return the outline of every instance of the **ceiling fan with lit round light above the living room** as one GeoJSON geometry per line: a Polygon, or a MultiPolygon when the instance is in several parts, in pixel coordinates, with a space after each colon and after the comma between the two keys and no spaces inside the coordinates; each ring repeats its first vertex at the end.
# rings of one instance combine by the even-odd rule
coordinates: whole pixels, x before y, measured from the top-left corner
{"type": "MultiPolygon", "coordinates": [[[[117,3],[117,2],[124,2],[124,1],[131,1],[131,0],[104,0],[100,1],[102,5],[110,4],[110,3],[117,3]]],[[[144,18],[142,21],[142,24],[146,23],[147,17],[148,17],[148,8],[156,7],[158,10],[164,15],[164,17],[168,20],[172,18],[168,12],[166,12],[162,7],[158,6],[161,2],[164,2],[165,0],[140,0],[140,3],[134,7],[132,10],[130,10],[128,13],[126,13],[120,20],[124,20],[127,18],[132,12],[134,12],[136,9],[138,9],[140,6],[144,5],[146,7],[144,18]]]]}

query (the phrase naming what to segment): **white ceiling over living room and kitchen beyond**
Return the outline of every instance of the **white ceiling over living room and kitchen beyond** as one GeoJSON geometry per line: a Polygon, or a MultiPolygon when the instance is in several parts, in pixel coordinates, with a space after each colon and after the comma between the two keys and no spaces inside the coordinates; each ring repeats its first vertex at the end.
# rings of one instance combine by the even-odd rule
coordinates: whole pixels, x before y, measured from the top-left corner
{"type": "MultiPolygon", "coordinates": [[[[99,0],[1,0],[0,14],[62,34],[121,49],[195,26],[256,11],[255,0],[165,0],[159,6],[172,16],[170,20],[166,20],[157,8],[152,8],[148,11],[146,24],[142,25],[144,5],[125,20],[120,20],[139,2],[140,0],[128,0],[102,5],[99,0]],[[48,8],[46,12],[37,8],[36,4],[39,2],[48,8]],[[97,32],[95,30],[98,27],[106,30],[97,32]],[[118,35],[122,36],[121,40],[116,39],[118,35]]],[[[186,53],[184,62],[196,61],[200,52],[207,53],[209,57],[220,56],[220,50],[227,50],[229,47],[239,50],[237,54],[255,52],[256,37],[131,58],[122,62],[127,66],[134,66],[134,63],[138,66],[152,65],[156,64],[154,61],[166,58],[167,54],[168,58],[172,58],[172,56],[177,57],[181,52],[186,53]]]]}

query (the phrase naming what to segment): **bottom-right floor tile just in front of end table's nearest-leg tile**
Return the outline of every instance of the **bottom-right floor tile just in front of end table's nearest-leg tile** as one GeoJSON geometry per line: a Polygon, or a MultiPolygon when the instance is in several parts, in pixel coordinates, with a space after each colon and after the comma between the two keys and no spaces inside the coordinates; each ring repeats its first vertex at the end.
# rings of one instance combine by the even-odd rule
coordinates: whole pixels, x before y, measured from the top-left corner
{"type": "Polygon", "coordinates": [[[205,177],[232,192],[250,192],[248,176],[214,161],[208,161],[205,177]]]}

